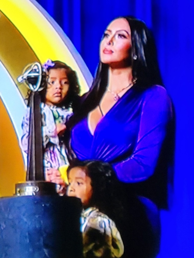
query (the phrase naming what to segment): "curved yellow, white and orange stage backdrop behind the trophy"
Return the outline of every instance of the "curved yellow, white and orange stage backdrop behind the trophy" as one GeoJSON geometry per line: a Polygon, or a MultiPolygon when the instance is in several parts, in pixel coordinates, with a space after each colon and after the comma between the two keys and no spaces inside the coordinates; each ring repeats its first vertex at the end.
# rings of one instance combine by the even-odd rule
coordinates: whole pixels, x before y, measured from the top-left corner
{"type": "Polygon", "coordinates": [[[26,64],[48,58],[67,63],[77,72],[81,94],[92,76],[57,23],[34,0],[0,1],[0,196],[14,193],[25,180],[25,156],[20,150],[26,88],[17,82],[26,64]]]}

